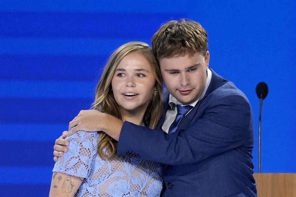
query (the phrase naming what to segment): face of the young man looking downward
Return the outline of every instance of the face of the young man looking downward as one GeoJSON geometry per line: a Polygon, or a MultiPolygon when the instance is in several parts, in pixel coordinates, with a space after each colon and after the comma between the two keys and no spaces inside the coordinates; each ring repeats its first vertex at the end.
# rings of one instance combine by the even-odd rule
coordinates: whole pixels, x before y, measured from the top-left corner
{"type": "Polygon", "coordinates": [[[159,60],[163,82],[167,90],[184,105],[193,103],[203,93],[207,82],[210,54],[197,52],[159,60]]]}

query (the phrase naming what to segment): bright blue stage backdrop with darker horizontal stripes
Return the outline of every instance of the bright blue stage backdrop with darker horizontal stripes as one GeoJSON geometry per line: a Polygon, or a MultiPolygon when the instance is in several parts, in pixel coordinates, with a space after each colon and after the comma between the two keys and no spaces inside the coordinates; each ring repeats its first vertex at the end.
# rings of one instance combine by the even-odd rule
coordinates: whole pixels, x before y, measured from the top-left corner
{"type": "Polygon", "coordinates": [[[106,59],[129,41],[150,44],[163,22],[208,31],[210,67],[249,98],[257,172],[258,82],[262,172],[296,172],[295,1],[0,2],[0,196],[47,196],[53,145],[88,109],[106,59]]]}

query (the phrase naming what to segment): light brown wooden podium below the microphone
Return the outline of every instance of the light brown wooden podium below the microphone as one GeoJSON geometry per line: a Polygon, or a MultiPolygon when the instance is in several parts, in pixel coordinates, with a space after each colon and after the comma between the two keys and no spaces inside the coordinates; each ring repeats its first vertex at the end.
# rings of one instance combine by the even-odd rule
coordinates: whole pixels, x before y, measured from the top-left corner
{"type": "Polygon", "coordinates": [[[258,197],[296,197],[296,173],[254,173],[258,197]]]}

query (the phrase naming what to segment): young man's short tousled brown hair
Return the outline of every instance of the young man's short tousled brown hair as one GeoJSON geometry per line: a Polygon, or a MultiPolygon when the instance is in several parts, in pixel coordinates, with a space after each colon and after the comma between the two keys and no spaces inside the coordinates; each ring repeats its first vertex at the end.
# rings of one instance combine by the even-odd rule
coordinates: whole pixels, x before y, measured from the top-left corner
{"type": "Polygon", "coordinates": [[[208,34],[198,23],[181,19],[163,24],[152,38],[152,49],[155,57],[171,58],[196,52],[205,56],[208,51],[208,34]]]}

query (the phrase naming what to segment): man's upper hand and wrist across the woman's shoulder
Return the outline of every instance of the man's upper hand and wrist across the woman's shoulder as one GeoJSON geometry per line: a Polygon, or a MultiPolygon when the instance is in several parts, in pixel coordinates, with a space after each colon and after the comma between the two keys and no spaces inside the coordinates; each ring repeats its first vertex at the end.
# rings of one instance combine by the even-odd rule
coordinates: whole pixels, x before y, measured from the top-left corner
{"type": "Polygon", "coordinates": [[[81,110],[69,123],[69,132],[65,133],[65,136],[70,136],[77,131],[104,131],[118,141],[122,124],[122,120],[100,111],[81,110]]]}

